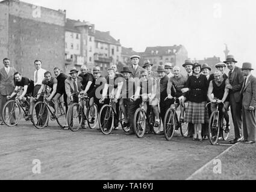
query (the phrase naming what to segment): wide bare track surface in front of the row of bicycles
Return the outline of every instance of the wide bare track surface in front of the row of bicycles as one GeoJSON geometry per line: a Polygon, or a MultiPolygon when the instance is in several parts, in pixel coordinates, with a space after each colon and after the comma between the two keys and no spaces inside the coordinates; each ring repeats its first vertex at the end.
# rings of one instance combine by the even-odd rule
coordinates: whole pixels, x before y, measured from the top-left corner
{"type": "Polygon", "coordinates": [[[151,134],[143,139],[122,130],[37,130],[27,122],[0,128],[0,179],[186,179],[229,145],[211,146],[151,134]],[[41,174],[34,174],[34,159],[41,174]]]}

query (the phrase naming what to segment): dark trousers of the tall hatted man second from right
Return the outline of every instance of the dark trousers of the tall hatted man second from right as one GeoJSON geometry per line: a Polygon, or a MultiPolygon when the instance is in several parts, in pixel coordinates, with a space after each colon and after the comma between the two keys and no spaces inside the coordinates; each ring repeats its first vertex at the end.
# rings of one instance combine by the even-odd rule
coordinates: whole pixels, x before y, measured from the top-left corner
{"type": "Polygon", "coordinates": [[[239,139],[241,136],[242,130],[242,103],[236,102],[234,95],[230,95],[230,106],[231,106],[231,115],[234,124],[234,131],[236,139],[239,139]]]}

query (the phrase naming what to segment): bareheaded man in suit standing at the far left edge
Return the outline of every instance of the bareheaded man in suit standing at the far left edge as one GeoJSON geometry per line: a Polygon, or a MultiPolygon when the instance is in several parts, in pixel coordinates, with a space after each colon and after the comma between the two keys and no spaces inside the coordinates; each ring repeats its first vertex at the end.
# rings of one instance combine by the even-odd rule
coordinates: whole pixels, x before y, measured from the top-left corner
{"type": "Polygon", "coordinates": [[[1,94],[1,102],[0,102],[0,119],[1,125],[4,125],[2,122],[2,107],[7,102],[7,95],[10,95],[14,91],[14,73],[16,73],[16,69],[10,67],[10,59],[3,59],[4,67],[0,70],[0,94],[1,94]]]}

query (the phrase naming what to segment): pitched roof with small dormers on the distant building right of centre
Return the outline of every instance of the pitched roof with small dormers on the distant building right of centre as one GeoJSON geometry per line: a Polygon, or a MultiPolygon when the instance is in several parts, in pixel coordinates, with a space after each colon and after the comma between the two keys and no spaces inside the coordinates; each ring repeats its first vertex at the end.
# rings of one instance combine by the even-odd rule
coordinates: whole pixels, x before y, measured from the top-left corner
{"type": "Polygon", "coordinates": [[[174,55],[181,49],[181,47],[183,46],[175,45],[175,46],[166,46],[166,47],[161,47],[161,46],[147,47],[144,55],[145,56],[174,55]]]}

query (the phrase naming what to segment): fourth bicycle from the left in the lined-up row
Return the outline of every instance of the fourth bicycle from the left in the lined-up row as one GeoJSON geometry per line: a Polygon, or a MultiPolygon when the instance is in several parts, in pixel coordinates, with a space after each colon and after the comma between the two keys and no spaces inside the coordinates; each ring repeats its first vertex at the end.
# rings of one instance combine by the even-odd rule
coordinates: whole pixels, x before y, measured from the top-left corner
{"type": "MultiPolygon", "coordinates": [[[[114,128],[114,117],[117,117],[116,110],[114,109],[114,95],[109,94],[106,97],[110,97],[110,103],[101,107],[99,112],[99,128],[103,134],[110,134],[114,128]]],[[[118,124],[120,123],[123,131],[128,132],[130,127],[124,127],[125,118],[122,110],[119,109],[118,124]]]]}

